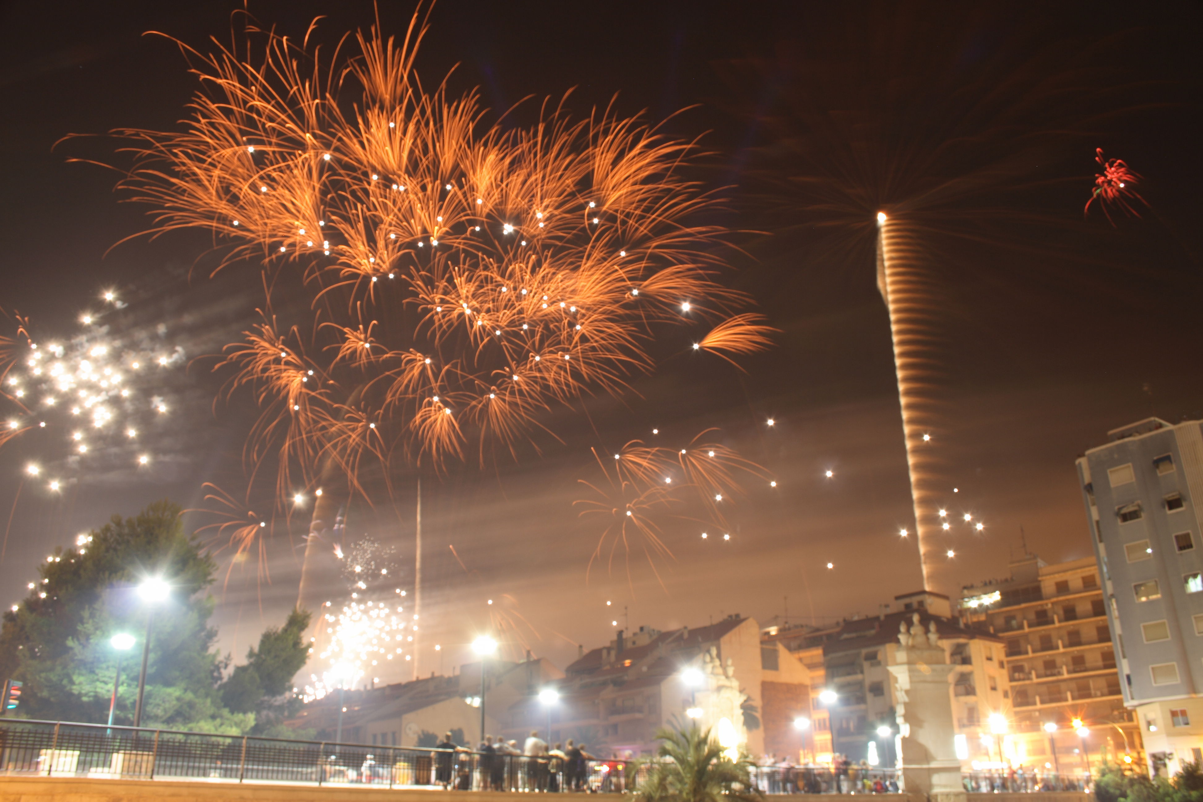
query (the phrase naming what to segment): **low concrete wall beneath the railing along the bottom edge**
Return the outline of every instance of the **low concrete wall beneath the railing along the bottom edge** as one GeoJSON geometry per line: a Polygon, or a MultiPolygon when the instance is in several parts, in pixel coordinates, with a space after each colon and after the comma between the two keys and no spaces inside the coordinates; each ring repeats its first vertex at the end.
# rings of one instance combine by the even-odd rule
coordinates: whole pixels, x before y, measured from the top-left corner
{"type": "MultiPolygon", "coordinates": [[[[306,788],[296,785],[261,785],[233,783],[174,783],[167,780],[94,780],[82,778],[19,778],[0,777],[0,802],[362,802],[378,798],[374,790],[383,790],[379,798],[398,802],[429,802],[431,791],[387,791],[387,786],[306,788]]],[[[1089,794],[970,794],[967,802],[1090,802],[1089,794]]],[[[512,794],[481,791],[444,791],[442,802],[514,802],[512,794]]],[[[615,795],[614,798],[622,800],[615,795]]],[[[781,795],[768,797],[774,802],[859,802],[864,795],[781,795]]],[[[921,795],[876,794],[879,802],[926,802],[921,795]]]]}

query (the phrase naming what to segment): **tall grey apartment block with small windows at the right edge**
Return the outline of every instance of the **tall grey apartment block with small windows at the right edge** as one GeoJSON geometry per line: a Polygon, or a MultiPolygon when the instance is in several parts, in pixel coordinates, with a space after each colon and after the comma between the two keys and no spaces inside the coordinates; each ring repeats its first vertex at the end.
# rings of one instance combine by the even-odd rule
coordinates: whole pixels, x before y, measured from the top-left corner
{"type": "Polygon", "coordinates": [[[1149,767],[1203,758],[1203,422],[1150,417],[1078,459],[1083,503],[1149,767]]]}

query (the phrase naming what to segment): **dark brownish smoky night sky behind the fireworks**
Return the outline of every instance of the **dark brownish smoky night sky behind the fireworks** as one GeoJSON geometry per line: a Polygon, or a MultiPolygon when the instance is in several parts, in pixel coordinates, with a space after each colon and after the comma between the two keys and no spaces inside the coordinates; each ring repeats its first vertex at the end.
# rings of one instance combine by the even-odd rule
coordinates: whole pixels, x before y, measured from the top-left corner
{"type": "MultiPolygon", "coordinates": [[[[403,34],[413,6],[380,6],[386,32],[403,34]]],[[[235,7],[0,7],[0,307],[29,316],[40,340],[66,338],[114,290],[128,303],[105,319],[114,333],[186,356],[186,366],[161,374],[170,415],[143,433],[153,470],[115,468],[120,455],[95,455],[79,461],[78,481],[61,494],[24,487],[0,563],[5,605],[24,595],[54,546],[114,512],[132,515],[165,497],[201,507],[203,482],[235,494],[245,487],[241,453],[253,406],[238,394],[214,404],[223,376],[205,357],[253,321],[259,293],[245,281],[257,273],[232,269],[211,280],[212,243],[196,234],[114,246],[148,227],[144,209],[119,202],[117,173],[69,164],[120,164],[113,141],[55,148],[69,133],[172,129],[196,79],[174,44],[142,34],[162,31],[203,51],[209,36],[229,38],[235,7]]],[[[369,25],[373,13],[369,2],[253,2],[250,11],[297,36],[326,14],[319,30],[330,41],[369,25]]],[[[529,623],[521,629],[534,652],[564,665],[576,643],[612,637],[614,620],[666,629],[742,613],[764,624],[782,620],[788,607],[792,622],[823,623],[875,614],[919,588],[914,543],[896,534],[913,524],[872,227],[841,228],[805,184],[790,183],[822,166],[814,154],[849,147],[810,125],[816,114],[852,109],[883,120],[888,150],[900,162],[911,158],[912,173],[971,168],[912,158],[959,126],[1014,145],[1014,178],[984,178],[985,189],[956,201],[934,234],[946,366],[934,392],[947,418],[936,441],[949,489],[959,489],[950,506],[986,524],[948,537],[948,547],[965,584],[1005,576],[1021,531],[1049,563],[1089,556],[1074,457],[1108,429],[1150,415],[1203,417],[1203,95],[1192,41],[1201,17],[1195,4],[438,4],[419,58],[428,84],[458,65],[450,87],[479,87],[493,109],[575,88],[569,106],[577,114],[615,94],[621,112],[644,111],[653,121],[681,112],[665,129],[701,137],[711,155],[697,177],[728,188],[722,222],[740,232],[725,280],[751,293],[780,334],[771,351],[742,361],[745,373],[691,358],[685,343],[657,344],[659,368],[634,382],[638,392],[547,418],[558,440],[538,439],[538,450],[516,462],[485,470],[469,463],[426,481],[427,646],[444,650],[421,655],[423,673],[469,659],[464,644],[487,625],[488,599],[494,613],[529,623]],[[1081,87],[1083,108],[1066,112],[1079,114],[1077,127],[1049,135],[1020,114],[990,131],[991,119],[1014,121],[1007,77],[1033,71],[1062,71],[1081,87]],[[1029,139],[1036,145],[1015,144],[1029,139]],[[1143,174],[1149,207],[1139,219],[1121,214],[1114,227],[1097,213],[1083,219],[1096,147],[1143,174]],[[594,563],[586,582],[599,533],[573,501],[583,494],[577,480],[595,477],[589,448],[651,439],[652,428],[665,442],[687,441],[707,427],[764,465],[777,488],[747,487],[729,541],[701,540],[695,522],[666,518],[675,559],[657,565],[663,587],[641,552],[629,563],[621,552],[612,564],[594,563]]],[[[516,119],[534,109],[528,101],[516,119]]],[[[889,191],[881,200],[888,203],[889,191]]],[[[929,226],[938,212],[929,209],[929,226]]],[[[10,509],[28,461],[65,459],[43,442],[52,440],[5,446],[0,509],[10,509]]],[[[392,546],[408,583],[413,479],[397,481],[410,495],[396,510],[352,506],[346,540],[371,534],[392,546]]],[[[207,522],[188,517],[194,529],[207,522]]],[[[283,620],[296,596],[304,528],[301,516],[291,539],[282,524],[266,542],[269,581],[256,578],[251,560],[235,565],[225,583],[229,557],[219,556],[224,650],[241,658],[265,625],[283,620]]],[[[324,576],[328,598],[342,599],[334,575],[324,576]]]]}

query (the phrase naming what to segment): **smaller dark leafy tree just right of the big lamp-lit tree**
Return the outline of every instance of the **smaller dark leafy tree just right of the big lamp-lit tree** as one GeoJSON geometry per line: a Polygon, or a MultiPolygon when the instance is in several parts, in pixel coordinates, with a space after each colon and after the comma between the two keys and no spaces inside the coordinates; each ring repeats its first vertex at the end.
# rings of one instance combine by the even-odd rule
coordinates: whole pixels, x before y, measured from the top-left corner
{"type": "Polygon", "coordinates": [[[236,666],[221,684],[221,701],[235,713],[255,713],[254,735],[298,737],[283,727],[284,720],[301,709],[292,691],[292,677],[309,658],[304,631],[309,613],[294,610],[283,628],[266,630],[259,648],[247,652],[247,664],[236,666]]]}

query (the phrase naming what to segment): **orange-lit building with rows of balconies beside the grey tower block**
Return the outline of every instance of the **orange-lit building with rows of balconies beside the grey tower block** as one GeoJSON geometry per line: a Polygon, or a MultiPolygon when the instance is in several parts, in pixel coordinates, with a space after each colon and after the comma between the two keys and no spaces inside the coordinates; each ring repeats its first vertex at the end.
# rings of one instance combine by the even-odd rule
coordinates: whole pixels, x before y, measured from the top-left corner
{"type": "Polygon", "coordinates": [[[966,587],[960,610],[964,620],[1005,638],[1008,762],[1062,773],[1085,772],[1092,760],[1140,764],[1140,732],[1124,706],[1092,558],[1045,565],[1025,553],[1012,560],[1009,577],[966,587]]]}

